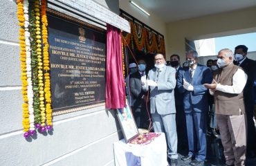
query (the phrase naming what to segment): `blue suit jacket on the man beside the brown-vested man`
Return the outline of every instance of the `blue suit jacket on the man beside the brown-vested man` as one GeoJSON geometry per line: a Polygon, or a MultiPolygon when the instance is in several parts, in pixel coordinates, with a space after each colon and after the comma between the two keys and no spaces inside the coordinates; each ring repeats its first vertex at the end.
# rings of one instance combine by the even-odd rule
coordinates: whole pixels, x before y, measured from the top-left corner
{"type": "Polygon", "coordinates": [[[181,93],[184,93],[183,105],[186,113],[192,109],[196,112],[208,111],[208,89],[203,86],[205,83],[212,83],[210,68],[197,64],[193,78],[190,78],[189,68],[179,72],[177,86],[181,93]],[[183,78],[194,86],[194,91],[187,91],[183,88],[183,78]]]}

